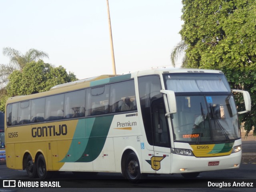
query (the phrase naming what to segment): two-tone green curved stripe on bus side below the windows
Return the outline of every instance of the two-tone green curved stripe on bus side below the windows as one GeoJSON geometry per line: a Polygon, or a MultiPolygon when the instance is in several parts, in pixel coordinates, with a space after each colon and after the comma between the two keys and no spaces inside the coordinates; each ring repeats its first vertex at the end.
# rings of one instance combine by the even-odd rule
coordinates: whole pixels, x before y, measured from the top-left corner
{"type": "Polygon", "coordinates": [[[106,142],[114,115],[96,118],[78,120],[74,139],[66,157],[60,162],[92,162],[99,156],[106,142]],[[85,132],[86,138],[81,138],[85,132]]]}

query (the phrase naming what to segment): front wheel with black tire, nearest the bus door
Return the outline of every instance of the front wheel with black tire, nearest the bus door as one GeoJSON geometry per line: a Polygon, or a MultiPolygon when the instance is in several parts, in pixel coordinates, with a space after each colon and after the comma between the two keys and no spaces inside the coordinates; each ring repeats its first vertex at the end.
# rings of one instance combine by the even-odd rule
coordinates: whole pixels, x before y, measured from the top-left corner
{"type": "Polygon", "coordinates": [[[134,152],[129,152],[124,162],[124,178],[130,182],[138,183],[144,175],[140,172],[140,163],[134,152]]]}

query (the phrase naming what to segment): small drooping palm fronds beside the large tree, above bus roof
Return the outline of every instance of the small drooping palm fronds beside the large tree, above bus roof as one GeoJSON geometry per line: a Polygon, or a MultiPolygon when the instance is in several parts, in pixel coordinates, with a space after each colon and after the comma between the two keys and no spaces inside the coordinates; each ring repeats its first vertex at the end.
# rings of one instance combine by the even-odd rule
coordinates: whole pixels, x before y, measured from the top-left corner
{"type": "Polygon", "coordinates": [[[181,67],[185,67],[186,64],[187,64],[187,57],[186,57],[186,54],[184,54],[185,50],[188,48],[188,45],[184,42],[184,41],[181,41],[179,42],[172,50],[171,52],[171,55],[170,55],[170,58],[171,58],[171,61],[172,61],[172,66],[175,67],[176,66],[176,61],[178,60],[178,58],[180,56],[183,56],[182,58],[182,65],[181,67]]]}

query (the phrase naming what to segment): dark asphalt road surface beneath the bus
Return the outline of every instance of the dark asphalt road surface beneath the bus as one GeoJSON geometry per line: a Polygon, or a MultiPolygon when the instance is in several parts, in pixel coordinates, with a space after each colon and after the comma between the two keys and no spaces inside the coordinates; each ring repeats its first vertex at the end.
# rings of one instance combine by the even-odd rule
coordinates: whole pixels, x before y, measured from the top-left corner
{"type": "MultiPolygon", "coordinates": [[[[5,164],[0,165],[0,179],[18,179],[18,180],[27,180],[28,176],[25,170],[11,170],[6,167],[5,164]]],[[[99,173],[96,176],[84,177],[81,179],[81,176],[74,176],[71,172],[63,172],[59,175],[52,178],[51,181],[64,181],[64,185],[72,186],[73,191],[82,192],[170,192],[170,191],[241,191],[244,192],[254,192],[255,188],[200,188],[200,186],[206,186],[210,182],[224,182],[232,180],[245,180],[253,181],[256,187],[256,164],[246,163],[241,164],[239,169],[231,170],[218,170],[212,172],[202,172],[196,178],[196,180],[185,180],[180,174],[174,175],[159,175],[148,176],[148,180],[145,180],[141,184],[131,184],[127,180],[123,180],[122,175],[118,173],[99,173]],[[83,187],[83,188],[79,188],[83,187]]],[[[40,181],[40,180],[34,180],[40,181]]],[[[63,184],[63,183],[62,183],[63,184]]],[[[0,192],[34,192],[34,188],[15,188],[15,189],[0,189],[0,192]]],[[[45,189],[37,188],[36,192],[70,192],[70,188],[61,188],[61,189],[45,189]]]]}

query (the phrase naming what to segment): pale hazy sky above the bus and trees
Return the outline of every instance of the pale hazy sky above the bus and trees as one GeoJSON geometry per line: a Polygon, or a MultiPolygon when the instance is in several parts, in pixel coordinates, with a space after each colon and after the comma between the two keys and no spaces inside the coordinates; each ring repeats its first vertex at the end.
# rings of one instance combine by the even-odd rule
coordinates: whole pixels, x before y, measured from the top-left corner
{"type": "MultiPolygon", "coordinates": [[[[108,2],[116,74],[172,67],[181,0],[108,2]]],[[[106,0],[0,0],[0,18],[0,64],[9,63],[4,47],[35,48],[78,79],[113,74],[106,0]]]]}

